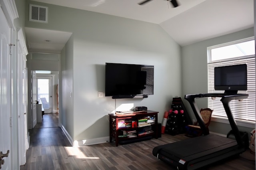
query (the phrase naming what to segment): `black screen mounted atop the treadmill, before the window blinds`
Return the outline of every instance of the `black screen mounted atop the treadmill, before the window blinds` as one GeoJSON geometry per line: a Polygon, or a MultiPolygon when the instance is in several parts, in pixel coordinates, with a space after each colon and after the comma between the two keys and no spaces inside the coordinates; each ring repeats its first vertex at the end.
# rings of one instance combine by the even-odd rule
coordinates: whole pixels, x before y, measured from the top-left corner
{"type": "Polygon", "coordinates": [[[214,89],[236,94],[247,90],[247,65],[228,65],[214,68],[214,89]]]}

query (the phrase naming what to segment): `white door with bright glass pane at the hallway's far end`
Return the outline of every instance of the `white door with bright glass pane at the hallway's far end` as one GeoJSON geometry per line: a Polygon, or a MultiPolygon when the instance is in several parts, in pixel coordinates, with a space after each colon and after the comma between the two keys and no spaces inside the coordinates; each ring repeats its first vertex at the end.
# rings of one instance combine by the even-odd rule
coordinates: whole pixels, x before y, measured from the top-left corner
{"type": "Polygon", "coordinates": [[[37,95],[44,113],[52,113],[52,76],[37,76],[37,95]]]}

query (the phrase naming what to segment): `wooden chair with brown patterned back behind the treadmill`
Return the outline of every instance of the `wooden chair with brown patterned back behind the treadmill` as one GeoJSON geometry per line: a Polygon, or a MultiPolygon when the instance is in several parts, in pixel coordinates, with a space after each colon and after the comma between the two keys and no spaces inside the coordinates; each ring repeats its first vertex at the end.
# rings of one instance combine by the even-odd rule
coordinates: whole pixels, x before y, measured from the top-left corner
{"type": "MultiPolygon", "coordinates": [[[[202,119],[204,121],[204,124],[208,130],[208,126],[210,125],[211,122],[211,117],[212,117],[212,109],[206,108],[206,109],[201,109],[200,114],[202,116],[202,119]]],[[[196,137],[196,136],[201,136],[202,135],[202,130],[200,126],[198,125],[198,122],[196,121],[194,125],[187,125],[186,126],[186,136],[188,137],[196,137]]]]}

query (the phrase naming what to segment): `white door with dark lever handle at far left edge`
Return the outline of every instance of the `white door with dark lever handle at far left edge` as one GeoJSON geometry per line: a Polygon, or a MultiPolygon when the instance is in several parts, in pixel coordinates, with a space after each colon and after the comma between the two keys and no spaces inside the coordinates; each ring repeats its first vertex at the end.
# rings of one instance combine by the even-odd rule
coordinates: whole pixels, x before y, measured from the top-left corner
{"type": "Polygon", "coordinates": [[[2,8],[0,8],[0,152],[8,157],[3,158],[4,164],[0,164],[4,170],[11,169],[11,128],[10,128],[10,105],[11,105],[11,80],[10,80],[10,27],[2,8]]]}

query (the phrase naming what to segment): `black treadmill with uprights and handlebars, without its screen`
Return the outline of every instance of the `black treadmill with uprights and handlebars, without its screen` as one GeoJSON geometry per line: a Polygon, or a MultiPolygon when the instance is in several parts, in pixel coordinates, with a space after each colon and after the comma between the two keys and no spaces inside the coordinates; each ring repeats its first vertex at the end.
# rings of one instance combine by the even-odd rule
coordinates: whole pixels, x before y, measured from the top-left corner
{"type": "Polygon", "coordinates": [[[203,135],[156,146],[152,151],[153,155],[176,167],[178,170],[194,170],[244,152],[248,147],[248,143],[246,143],[248,142],[248,133],[244,132],[242,134],[239,132],[229,103],[232,100],[242,100],[246,98],[248,98],[248,94],[232,94],[226,93],[226,91],[224,93],[185,95],[185,99],[190,103],[203,131],[203,135]],[[209,130],[204,125],[200,111],[195,103],[196,98],[202,97],[221,97],[220,101],[228,116],[228,121],[232,128],[231,131],[235,139],[209,134],[209,130]]]}

